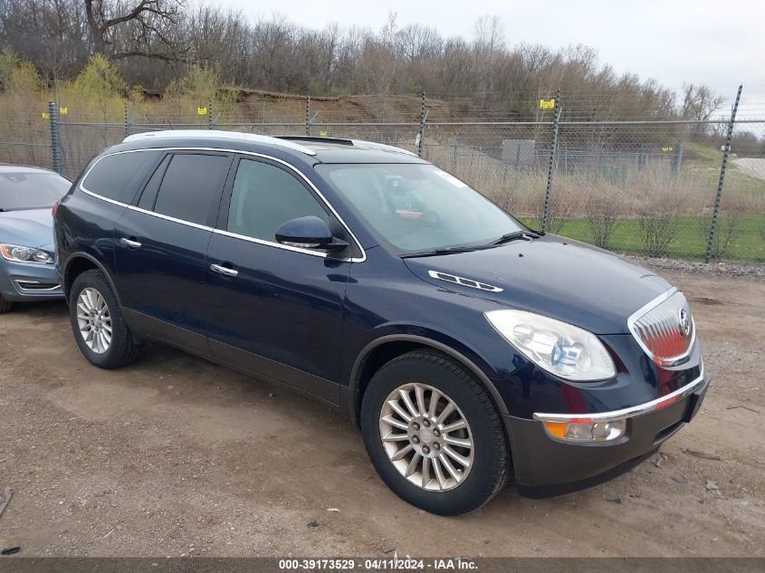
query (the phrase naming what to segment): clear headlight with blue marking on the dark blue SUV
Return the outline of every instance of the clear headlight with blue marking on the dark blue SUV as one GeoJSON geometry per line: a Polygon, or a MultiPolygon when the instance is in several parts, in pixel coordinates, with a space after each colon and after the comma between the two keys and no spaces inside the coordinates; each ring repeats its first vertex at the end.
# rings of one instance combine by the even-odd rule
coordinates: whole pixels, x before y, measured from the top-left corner
{"type": "Polygon", "coordinates": [[[490,310],[486,319],[526,358],[555,376],[595,381],[617,375],[607,350],[587,330],[523,310],[490,310]]]}

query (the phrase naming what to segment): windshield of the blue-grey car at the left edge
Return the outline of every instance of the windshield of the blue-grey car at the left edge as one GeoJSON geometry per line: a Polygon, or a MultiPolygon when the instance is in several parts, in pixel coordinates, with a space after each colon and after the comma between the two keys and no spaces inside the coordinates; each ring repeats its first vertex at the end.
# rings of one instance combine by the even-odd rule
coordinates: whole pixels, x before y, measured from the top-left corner
{"type": "Polygon", "coordinates": [[[55,173],[0,173],[0,211],[52,207],[71,185],[55,173]]]}

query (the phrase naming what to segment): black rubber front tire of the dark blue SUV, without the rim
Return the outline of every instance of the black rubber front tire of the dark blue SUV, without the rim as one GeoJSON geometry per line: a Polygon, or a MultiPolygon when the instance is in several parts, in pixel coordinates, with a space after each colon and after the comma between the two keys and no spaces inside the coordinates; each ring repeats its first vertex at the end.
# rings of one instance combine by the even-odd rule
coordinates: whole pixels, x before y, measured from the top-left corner
{"type": "Polygon", "coordinates": [[[408,352],[380,368],[361,403],[361,432],[375,469],[387,486],[412,505],[439,515],[460,515],[481,507],[502,489],[509,469],[502,420],[478,380],[450,358],[428,350],[408,352]],[[418,382],[449,396],[473,435],[473,465],[454,489],[428,491],[410,482],[390,461],[380,436],[380,415],[398,387],[418,382]]]}

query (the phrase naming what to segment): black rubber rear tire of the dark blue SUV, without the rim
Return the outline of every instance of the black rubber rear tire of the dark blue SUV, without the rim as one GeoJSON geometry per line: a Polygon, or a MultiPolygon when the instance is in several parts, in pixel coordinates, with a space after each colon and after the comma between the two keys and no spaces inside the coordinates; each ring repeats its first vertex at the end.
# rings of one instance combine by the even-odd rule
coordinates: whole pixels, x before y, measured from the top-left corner
{"type": "Polygon", "coordinates": [[[74,279],[69,295],[69,317],[72,323],[72,333],[82,354],[88,361],[99,368],[121,368],[128,366],[139,358],[143,345],[130,332],[125,319],[122,317],[120,304],[111,290],[109,282],[98,270],[82,272],[74,279]],[[87,288],[95,289],[103,297],[111,317],[111,342],[109,348],[102,354],[93,351],[83,338],[77,322],[77,301],[80,293],[87,288]]]}

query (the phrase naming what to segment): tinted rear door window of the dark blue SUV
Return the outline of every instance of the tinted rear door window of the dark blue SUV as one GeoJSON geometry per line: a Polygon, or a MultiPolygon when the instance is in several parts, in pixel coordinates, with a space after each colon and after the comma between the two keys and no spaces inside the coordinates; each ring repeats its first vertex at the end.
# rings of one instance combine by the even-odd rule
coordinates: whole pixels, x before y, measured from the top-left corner
{"type": "Polygon", "coordinates": [[[207,224],[210,205],[225,177],[224,156],[176,155],[167,166],[154,211],[196,224],[207,224]]]}

